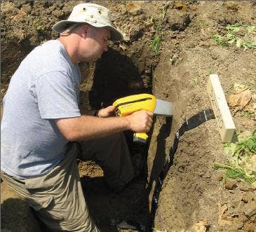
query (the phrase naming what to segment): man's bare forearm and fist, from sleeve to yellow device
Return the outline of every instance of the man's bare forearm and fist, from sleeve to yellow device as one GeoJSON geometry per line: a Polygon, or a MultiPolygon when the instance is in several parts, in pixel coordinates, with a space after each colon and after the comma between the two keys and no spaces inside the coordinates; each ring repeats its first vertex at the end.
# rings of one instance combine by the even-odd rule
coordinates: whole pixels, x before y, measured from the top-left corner
{"type": "Polygon", "coordinates": [[[136,111],[125,117],[98,118],[80,116],[56,119],[60,132],[69,140],[97,139],[113,135],[124,130],[148,132],[151,128],[153,114],[149,111],[136,111]]]}

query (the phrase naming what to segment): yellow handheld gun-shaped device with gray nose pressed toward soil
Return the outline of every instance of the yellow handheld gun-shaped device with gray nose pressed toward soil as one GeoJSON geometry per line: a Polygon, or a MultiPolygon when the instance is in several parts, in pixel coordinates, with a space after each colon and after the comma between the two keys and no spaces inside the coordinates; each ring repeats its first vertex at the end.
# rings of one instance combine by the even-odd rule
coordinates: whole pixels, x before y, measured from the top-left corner
{"type": "MultiPolygon", "coordinates": [[[[119,117],[133,114],[133,112],[139,110],[147,110],[163,116],[173,115],[170,102],[158,100],[154,95],[147,93],[119,98],[113,103],[113,106],[116,107],[116,116],[119,117]]],[[[133,142],[145,143],[147,138],[148,136],[145,132],[136,132],[133,135],[133,142]]]]}

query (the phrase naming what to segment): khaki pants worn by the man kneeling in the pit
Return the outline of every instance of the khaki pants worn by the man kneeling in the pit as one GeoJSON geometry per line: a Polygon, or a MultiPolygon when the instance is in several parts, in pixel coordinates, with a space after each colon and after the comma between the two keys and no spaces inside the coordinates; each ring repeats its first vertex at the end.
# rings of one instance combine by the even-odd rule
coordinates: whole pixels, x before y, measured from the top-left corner
{"type": "Polygon", "coordinates": [[[42,177],[16,179],[1,172],[1,178],[36,210],[51,231],[99,231],[83,197],[77,157],[99,163],[113,189],[122,189],[133,178],[123,134],[81,142],[80,147],[69,143],[64,160],[42,177]]]}

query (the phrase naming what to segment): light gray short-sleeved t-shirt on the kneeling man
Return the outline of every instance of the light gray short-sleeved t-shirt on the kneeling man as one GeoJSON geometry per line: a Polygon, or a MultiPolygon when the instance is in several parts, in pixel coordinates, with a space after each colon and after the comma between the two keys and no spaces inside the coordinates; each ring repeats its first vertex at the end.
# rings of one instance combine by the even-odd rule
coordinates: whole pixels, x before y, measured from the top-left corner
{"type": "Polygon", "coordinates": [[[20,179],[58,165],[67,139],[55,118],[81,116],[81,74],[58,40],[32,50],[11,78],[1,121],[1,170],[20,179]]]}

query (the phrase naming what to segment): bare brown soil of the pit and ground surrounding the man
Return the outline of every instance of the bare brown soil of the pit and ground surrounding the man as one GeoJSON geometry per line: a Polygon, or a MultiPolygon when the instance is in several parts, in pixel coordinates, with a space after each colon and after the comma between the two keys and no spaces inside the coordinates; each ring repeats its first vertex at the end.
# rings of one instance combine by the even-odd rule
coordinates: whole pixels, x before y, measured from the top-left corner
{"type": "MultiPolygon", "coordinates": [[[[149,184],[140,177],[123,192],[112,193],[95,163],[79,163],[90,214],[102,231],[116,231],[109,226],[109,219],[130,219],[140,224],[149,221],[148,193],[168,156],[175,132],[186,118],[210,108],[206,91],[209,74],[219,75],[227,99],[235,83],[248,86],[252,99],[247,108],[231,112],[238,132],[255,130],[255,48],[244,50],[234,43],[221,46],[212,35],[224,36],[227,25],[256,25],[256,2],[93,2],[113,12],[114,23],[126,33],[126,41],[110,44],[109,52],[95,64],[81,64],[83,76],[87,76],[81,86],[81,107],[99,109],[112,104],[117,97],[133,93],[154,93],[174,106],[171,123],[170,118],[166,121],[161,117],[154,123],[148,144],[149,184]],[[152,41],[156,45],[159,42],[159,53],[156,47],[155,53],[152,52],[152,41]]],[[[50,27],[67,18],[77,3],[2,1],[2,96],[25,55],[43,41],[57,38],[50,27]]],[[[180,138],[173,165],[163,183],[154,229],[255,231],[256,187],[240,179],[225,180],[224,170],[213,169],[214,162],[226,160],[215,120],[186,132],[180,138]]],[[[4,183],[1,196],[1,228],[39,231],[34,227],[36,221],[28,226],[32,214],[22,201],[15,200],[17,196],[4,183]],[[13,210],[10,202],[20,205],[18,210],[13,210]]]]}

